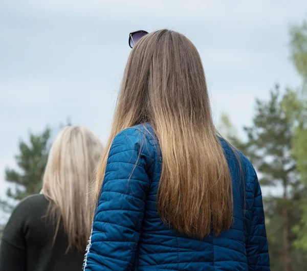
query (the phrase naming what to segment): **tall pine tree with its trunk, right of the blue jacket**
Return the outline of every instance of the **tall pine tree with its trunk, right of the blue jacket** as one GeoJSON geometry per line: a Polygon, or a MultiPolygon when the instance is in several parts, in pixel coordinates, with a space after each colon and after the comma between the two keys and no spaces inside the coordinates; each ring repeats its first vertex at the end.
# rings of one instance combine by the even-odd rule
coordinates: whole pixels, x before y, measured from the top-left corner
{"type": "MultiPolygon", "coordinates": [[[[296,239],[292,228],[300,218],[300,210],[297,205],[306,195],[304,186],[301,186],[300,183],[300,175],[296,171],[297,161],[292,155],[296,116],[293,103],[294,93],[291,89],[286,89],[286,93],[281,96],[279,87],[276,86],[268,102],[256,101],[253,125],[245,127],[248,135],[246,154],[260,173],[260,184],[279,188],[281,192],[280,197],[266,199],[268,202],[266,208],[268,230],[270,231],[270,223],[273,223],[275,229],[276,225],[281,225],[282,234],[275,241],[277,244],[282,244],[279,258],[283,259],[284,271],[292,270],[295,264],[291,260],[292,242],[296,239]],[[268,206],[271,207],[268,209],[268,206]],[[270,213],[272,210],[274,213],[270,213]]],[[[281,231],[277,232],[281,233],[281,231]]],[[[269,232],[269,235],[273,233],[269,232]]],[[[272,251],[271,256],[274,253],[279,252],[278,250],[272,251]]]]}

